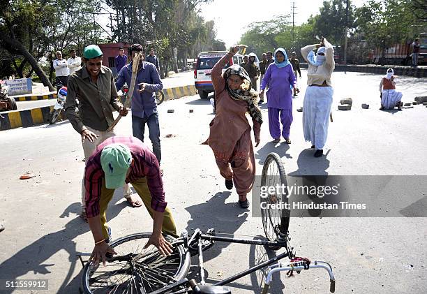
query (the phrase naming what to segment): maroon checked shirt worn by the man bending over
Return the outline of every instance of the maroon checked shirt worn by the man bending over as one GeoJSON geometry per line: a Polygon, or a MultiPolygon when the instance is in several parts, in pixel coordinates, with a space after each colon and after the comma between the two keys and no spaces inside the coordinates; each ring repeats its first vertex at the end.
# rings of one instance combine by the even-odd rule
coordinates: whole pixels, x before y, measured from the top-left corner
{"type": "Polygon", "coordinates": [[[84,172],[87,217],[100,214],[99,202],[100,198],[103,197],[101,191],[103,189],[103,179],[105,178],[100,156],[103,148],[110,144],[123,144],[129,147],[134,162],[130,167],[130,174],[126,177],[126,183],[132,183],[137,179],[147,177],[147,186],[151,193],[151,208],[156,212],[164,212],[167,203],[165,202],[165,191],[163,191],[163,181],[156,156],[147,145],[144,145],[135,137],[115,136],[98,145],[95,152],[87,160],[84,172]]]}

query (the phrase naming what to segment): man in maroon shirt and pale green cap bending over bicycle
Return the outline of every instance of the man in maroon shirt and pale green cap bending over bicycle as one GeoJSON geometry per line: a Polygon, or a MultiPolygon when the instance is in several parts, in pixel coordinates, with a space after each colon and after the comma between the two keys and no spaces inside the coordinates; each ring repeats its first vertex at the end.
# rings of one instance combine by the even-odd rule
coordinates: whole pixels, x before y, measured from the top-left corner
{"type": "Polygon", "coordinates": [[[114,136],[102,142],[87,160],[84,175],[86,187],[86,212],[95,247],[92,258],[95,264],[103,261],[105,254],[115,254],[108,245],[111,229],[107,226],[107,205],[114,189],[131,183],[153,218],[153,234],[144,248],[153,244],[164,256],[172,253],[172,244],[164,233],[177,235],[172,213],[166,207],[163,181],[156,156],[140,140],[132,136],[114,136]]]}

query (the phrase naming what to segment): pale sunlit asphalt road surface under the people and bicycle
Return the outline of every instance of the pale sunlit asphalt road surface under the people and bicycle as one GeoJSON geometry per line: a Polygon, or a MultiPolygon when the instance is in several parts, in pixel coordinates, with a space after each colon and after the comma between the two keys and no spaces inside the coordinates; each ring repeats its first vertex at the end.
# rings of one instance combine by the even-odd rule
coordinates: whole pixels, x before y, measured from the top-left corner
{"type": "MultiPolygon", "coordinates": [[[[294,110],[303,102],[304,76],[305,71],[294,110]]],[[[310,143],[304,142],[301,112],[293,112],[292,144],[274,145],[263,105],[262,141],[255,148],[257,175],[261,175],[269,152],[280,155],[291,175],[405,175],[408,181],[427,175],[427,108],[414,105],[402,111],[378,110],[380,78],[334,73],[334,122],[329,125],[326,156],[320,159],[313,158],[310,143]],[[347,97],[353,98],[353,109],[338,111],[338,101],[347,97]],[[362,110],[361,103],[369,103],[370,108],[362,110]]],[[[427,79],[399,80],[403,101],[426,95],[427,79]]],[[[165,101],[158,111],[166,199],[179,231],[213,227],[234,236],[262,235],[262,221],[253,216],[257,207],[242,210],[237,206],[237,193],[225,189],[211,150],[200,145],[213,119],[209,101],[190,96],[165,101]],[[168,109],[175,111],[168,114],[168,109]],[[190,109],[194,112],[189,113],[190,109]]],[[[131,134],[130,116],[122,119],[117,133],[131,134]]],[[[84,169],[80,136],[68,122],[17,128],[1,132],[0,149],[0,222],[6,226],[0,233],[0,279],[48,279],[49,291],[33,293],[77,293],[82,267],[76,253],[90,252],[93,247],[90,230],[78,217],[84,169]],[[27,171],[36,177],[20,180],[27,171]]],[[[382,184],[375,181],[373,184],[382,184]]],[[[387,186],[381,191],[383,197],[389,197],[387,205],[427,205],[425,191],[387,194],[387,186]]],[[[151,230],[144,208],[128,207],[121,191],[110,203],[107,218],[114,238],[151,230]]],[[[427,289],[426,217],[294,217],[290,235],[297,256],[331,263],[336,293],[425,293],[427,289]]],[[[262,253],[264,249],[253,246],[217,242],[205,256],[209,283],[253,265],[262,253]]],[[[320,270],[280,277],[274,278],[271,293],[329,290],[327,274],[320,270]]],[[[230,286],[233,293],[260,293],[258,281],[252,274],[230,286]]]]}

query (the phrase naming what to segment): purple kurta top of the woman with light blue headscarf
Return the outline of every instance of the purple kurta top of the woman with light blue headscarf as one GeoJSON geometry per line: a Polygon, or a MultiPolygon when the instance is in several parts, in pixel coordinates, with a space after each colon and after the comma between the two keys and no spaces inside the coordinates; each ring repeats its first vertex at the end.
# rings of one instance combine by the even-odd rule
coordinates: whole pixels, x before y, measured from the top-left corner
{"type": "Polygon", "coordinates": [[[278,68],[276,64],[270,64],[261,82],[261,89],[267,90],[267,106],[269,108],[292,109],[291,85],[297,82],[292,66],[288,64],[278,68]]]}

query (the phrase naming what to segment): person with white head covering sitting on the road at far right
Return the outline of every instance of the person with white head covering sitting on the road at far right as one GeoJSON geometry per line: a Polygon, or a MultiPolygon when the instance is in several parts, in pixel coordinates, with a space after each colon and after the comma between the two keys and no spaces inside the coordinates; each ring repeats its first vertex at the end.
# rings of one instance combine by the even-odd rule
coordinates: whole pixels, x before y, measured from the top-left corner
{"type": "Polygon", "coordinates": [[[401,101],[403,94],[395,89],[396,79],[394,77],[394,71],[393,68],[389,68],[380,82],[380,110],[393,109],[395,107],[402,109],[403,103],[401,101]]]}

